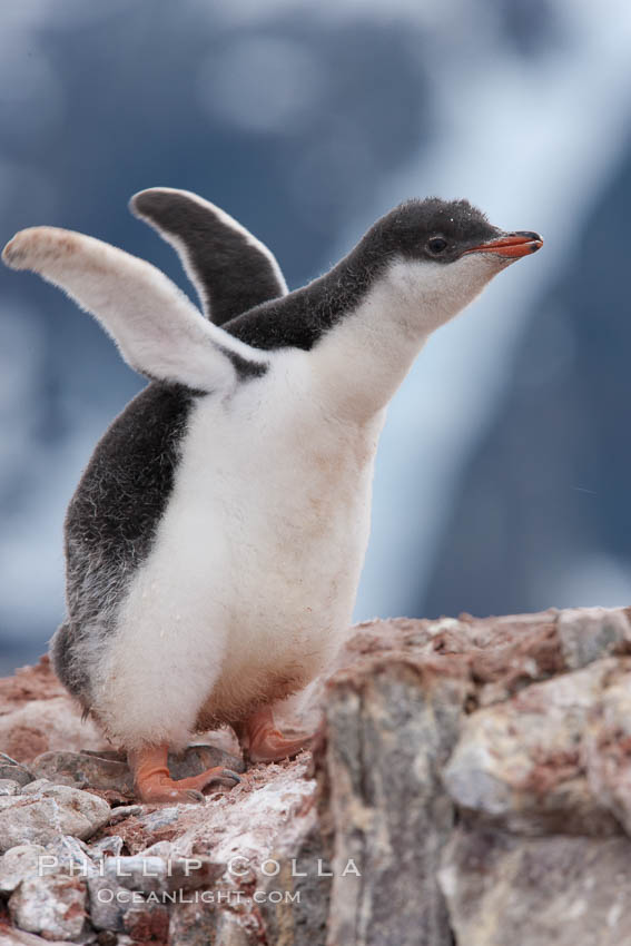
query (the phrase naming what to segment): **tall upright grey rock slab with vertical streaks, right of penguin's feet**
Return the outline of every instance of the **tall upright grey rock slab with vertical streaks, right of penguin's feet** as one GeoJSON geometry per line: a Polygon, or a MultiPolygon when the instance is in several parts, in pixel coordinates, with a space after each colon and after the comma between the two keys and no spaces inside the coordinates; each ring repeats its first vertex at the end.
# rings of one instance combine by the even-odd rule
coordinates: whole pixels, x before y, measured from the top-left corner
{"type": "Polygon", "coordinates": [[[460,674],[433,674],[412,654],[375,657],[333,678],[321,758],[332,942],[451,943],[436,870],[453,805],[440,771],[465,692],[460,674]]]}

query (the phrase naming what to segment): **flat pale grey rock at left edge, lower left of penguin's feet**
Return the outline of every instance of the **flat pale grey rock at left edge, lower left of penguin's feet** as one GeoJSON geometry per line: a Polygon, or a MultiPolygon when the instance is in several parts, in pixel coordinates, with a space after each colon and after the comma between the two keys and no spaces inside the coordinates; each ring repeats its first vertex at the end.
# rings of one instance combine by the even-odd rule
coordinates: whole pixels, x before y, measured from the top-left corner
{"type": "Polygon", "coordinates": [[[68,786],[43,786],[34,796],[0,798],[0,850],[24,841],[48,844],[59,835],[91,837],[110,817],[107,801],[68,786]]]}

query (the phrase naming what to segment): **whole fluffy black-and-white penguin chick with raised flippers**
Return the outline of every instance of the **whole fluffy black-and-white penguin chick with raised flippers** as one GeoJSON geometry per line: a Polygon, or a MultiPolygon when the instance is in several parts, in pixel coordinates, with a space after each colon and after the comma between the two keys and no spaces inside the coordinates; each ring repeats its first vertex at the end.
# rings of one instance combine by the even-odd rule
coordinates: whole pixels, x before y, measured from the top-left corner
{"type": "MultiPolygon", "coordinates": [[[[204,230],[220,211],[144,194],[136,213],[211,309],[204,230]]],[[[9,266],[63,288],[150,378],[71,501],[68,620],[52,643],[65,684],[127,749],[142,800],[190,801],[231,775],[170,778],[168,748],[196,730],[234,726],[255,761],[302,748],[275,729],[274,704],[327,667],[348,628],[386,405],[428,335],[541,245],[466,200],[410,200],[302,289],[282,295],[269,264],[280,297],[224,321],[228,302],[223,327],[91,237],[36,227],[7,245],[9,266]]]]}

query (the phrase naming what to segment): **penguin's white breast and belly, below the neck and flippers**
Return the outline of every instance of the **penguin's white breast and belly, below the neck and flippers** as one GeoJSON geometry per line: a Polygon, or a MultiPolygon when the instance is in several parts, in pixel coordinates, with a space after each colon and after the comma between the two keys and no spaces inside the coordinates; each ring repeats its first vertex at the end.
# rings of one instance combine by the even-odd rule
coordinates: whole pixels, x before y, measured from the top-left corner
{"type": "Polygon", "coordinates": [[[200,398],[154,549],[124,601],[96,709],[115,738],[178,742],[298,689],[349,621],[369,528],[378,415],[323,414],[290,351],[230,398],[200,398]]]}

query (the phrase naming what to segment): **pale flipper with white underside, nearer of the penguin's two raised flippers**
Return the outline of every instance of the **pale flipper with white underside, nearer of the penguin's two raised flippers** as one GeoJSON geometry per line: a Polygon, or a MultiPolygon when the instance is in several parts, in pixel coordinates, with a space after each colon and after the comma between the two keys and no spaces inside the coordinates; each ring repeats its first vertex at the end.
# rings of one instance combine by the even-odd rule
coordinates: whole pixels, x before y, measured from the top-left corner
{"type": "Polygon", "coordinates": [[[237,372],[265,371],[260,352],[201,318],[164,273],[99,239],[31,227],[16,234],[2,259],[63,289],[100,322],[125,361],[150,378],[210,392],[230,387],[237,372]]]}

